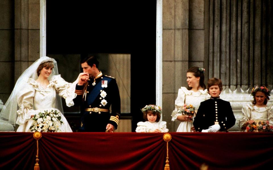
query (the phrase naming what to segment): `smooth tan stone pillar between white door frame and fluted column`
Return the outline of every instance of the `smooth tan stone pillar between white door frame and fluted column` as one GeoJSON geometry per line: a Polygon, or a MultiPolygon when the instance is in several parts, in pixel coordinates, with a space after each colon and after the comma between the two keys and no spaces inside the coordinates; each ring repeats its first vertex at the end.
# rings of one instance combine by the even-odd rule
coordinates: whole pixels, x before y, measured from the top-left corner
{"type": "Polygon", "coordinates": [[[178,89],[187,87],[189,67],[204,67],[204,0],[163,1],[163,121],[170,132],[178,89]]]}

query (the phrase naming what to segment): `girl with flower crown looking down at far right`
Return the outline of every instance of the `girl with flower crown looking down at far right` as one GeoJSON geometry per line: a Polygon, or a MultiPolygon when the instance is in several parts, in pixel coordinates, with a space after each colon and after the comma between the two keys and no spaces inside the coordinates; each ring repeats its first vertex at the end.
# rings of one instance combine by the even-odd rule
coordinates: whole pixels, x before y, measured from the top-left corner
{"type": "Polygon", "coordinates": [[[256,86],[252,89],[251,95],[252,104],[246,104],[242,108],[243,116],[239,121],[239,127],[245,130],[249,124],[253,122],[267,122],[270,126],[273,125],[273,105],[267,105],[269,100],[269,89],[265,86],[256,86]]]}

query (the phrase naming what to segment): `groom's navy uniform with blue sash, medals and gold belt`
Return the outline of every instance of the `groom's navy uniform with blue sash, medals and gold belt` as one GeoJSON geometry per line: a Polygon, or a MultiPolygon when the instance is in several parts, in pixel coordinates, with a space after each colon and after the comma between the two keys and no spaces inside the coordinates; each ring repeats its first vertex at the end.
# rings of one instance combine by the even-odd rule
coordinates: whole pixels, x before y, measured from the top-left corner
{"type": "Polygon", "coordinates": [[[73,101],[75,105],[81,106],[79,131],[105,132],[108,123],[117,129],[120,116],[120,96],[115,78],[100,72],[95,79],[96,85],[93,86],[92,83],[94,83],[94,78],[90,77],[84,85],[76,85],[77,96],[73,101]],[[92,100],[93,102],[90,103],[92,100]],[[111,113],[109,112],[110,106],[111,113]]]}

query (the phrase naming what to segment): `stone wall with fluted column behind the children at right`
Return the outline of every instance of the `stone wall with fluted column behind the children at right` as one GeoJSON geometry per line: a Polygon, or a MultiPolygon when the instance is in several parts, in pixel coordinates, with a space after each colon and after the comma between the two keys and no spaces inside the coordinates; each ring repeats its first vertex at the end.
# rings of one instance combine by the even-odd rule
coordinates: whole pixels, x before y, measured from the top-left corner
{"type": "Polygon", "coordinates": [[[180,123],[172,122],[170,115],[192,66],[206,69],[205,83],[211,77],[223,80],[222,98],[231,102],[237,119],[253,86],[272,90],[270,16],[271,1],[163,1],[162,105],[170,131],[180,123]]]}

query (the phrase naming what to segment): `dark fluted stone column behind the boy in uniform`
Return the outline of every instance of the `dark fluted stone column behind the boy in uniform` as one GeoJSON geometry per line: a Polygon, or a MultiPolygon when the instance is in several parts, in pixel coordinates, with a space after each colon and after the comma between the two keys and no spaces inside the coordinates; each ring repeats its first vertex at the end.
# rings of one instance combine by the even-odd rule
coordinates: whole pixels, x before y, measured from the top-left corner
{"type": "MultiPolygon", "coordinates": [[[[272,1],[206,1],[208,78],[231,91],[273,87],[272,1]]],[[[206,76],[207,76],[206,75],[206,76]]]]}

